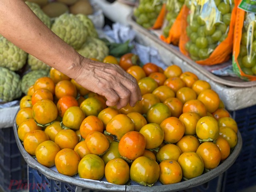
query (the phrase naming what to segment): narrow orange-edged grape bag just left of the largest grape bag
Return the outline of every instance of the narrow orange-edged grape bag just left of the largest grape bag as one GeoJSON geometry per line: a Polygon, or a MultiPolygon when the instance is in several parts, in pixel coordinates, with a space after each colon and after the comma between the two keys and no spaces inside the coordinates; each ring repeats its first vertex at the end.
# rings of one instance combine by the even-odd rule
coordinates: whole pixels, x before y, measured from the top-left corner
{"type": "Polygon", "coordinates": [[[178,45],[181,34],[181,18],[182,6],[184,0],[167,0],[166,2],[166,15],[162,25],[162,35],[160,39],[164,42],[178,45]]]}

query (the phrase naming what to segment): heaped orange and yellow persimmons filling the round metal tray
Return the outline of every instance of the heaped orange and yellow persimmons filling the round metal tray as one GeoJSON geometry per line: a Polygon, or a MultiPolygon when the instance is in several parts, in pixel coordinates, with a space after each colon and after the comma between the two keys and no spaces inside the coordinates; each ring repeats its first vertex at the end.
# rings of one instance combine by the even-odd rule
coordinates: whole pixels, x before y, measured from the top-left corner
{"type": "Polygon", "coordinates": [[[20,100],[18,136],[46,166],[80,178],[146,186],[181,182],[216,168],[237,143],[238,127],[208,82],[176,65],[138,65],[113,56],[134,76],[142,100],[118,110],[52,68],[20,100]]]}

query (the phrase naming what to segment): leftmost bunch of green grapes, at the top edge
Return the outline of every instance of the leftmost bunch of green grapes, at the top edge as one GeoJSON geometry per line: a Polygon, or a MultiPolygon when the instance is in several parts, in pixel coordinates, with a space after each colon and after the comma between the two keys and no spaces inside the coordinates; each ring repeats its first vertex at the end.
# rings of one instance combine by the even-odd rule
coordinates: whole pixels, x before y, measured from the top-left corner
{"type": "Polygon", "coordinates": [[[162,8],[162,0],[140,0],[134,9],[135,20],[144,28],[154,25],[162,8]]]}

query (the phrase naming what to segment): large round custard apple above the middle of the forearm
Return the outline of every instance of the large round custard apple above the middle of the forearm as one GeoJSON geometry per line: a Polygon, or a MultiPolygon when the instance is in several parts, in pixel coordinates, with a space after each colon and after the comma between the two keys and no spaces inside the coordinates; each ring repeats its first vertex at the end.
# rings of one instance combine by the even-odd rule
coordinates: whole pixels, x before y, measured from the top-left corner
{"type": "Polygon", "coordinates": [[[88,36],[82,21],[69,13],[64,13],[56,18],[52,24],[52,31],[74,49],[81,48],[88,36]]]}

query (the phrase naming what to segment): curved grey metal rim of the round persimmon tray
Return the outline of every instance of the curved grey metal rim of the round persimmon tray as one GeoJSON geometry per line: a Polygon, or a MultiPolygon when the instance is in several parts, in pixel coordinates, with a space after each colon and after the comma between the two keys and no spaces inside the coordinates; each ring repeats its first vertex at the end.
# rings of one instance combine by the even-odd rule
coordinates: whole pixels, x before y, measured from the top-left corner
{"type": "Polygon", "coordinates": [[[146,187],[146,186],[135,186],[135,185],[115,185],[115,184],[106,184],[102,182],[92,182],[84,179],[74,178],[70,176],[66,176],[63,174],[60,174],[50,168],[47,168],[37,162],[30,154],[26,152],[24,149],[22,143],[20,142],[20,139],[18,138],[18,131],[17,131],[17,125],[14,120],[13,123],[13,129],[14,129],[14,136],[16,138],[16,142],[18,145],[18,148],[24,157],[25,161],[27,162],[28,166],[35,168],[36,170],[40,171],[42,174],[44,174],[47,178],[58,180],[60,182],[65,182],[68,184],[75,185],[79,188],[87,188],[91,190],[102,190],[102,191],[125,191],[125,192],[174,192],[178,190],[184,190],[188,188],[192,188],[201,184],[204,184],[220,174],[224,173],[236,160],[238,157],[241,149],[242,149],[242,137],[240,132],[238,131],[238,143],[235,146],[233,152],[230,154],[230,156],[222,162],[218,167],[212,169],[209,172],[206,172],[202,174],[201,176],[198,176],[196,178],[192,178],[190,180],[182,181],[176,184],[168,184],[168,185],[162,185],[160,182],[157,182],[156,185],[152,187],[146,187]]]}

